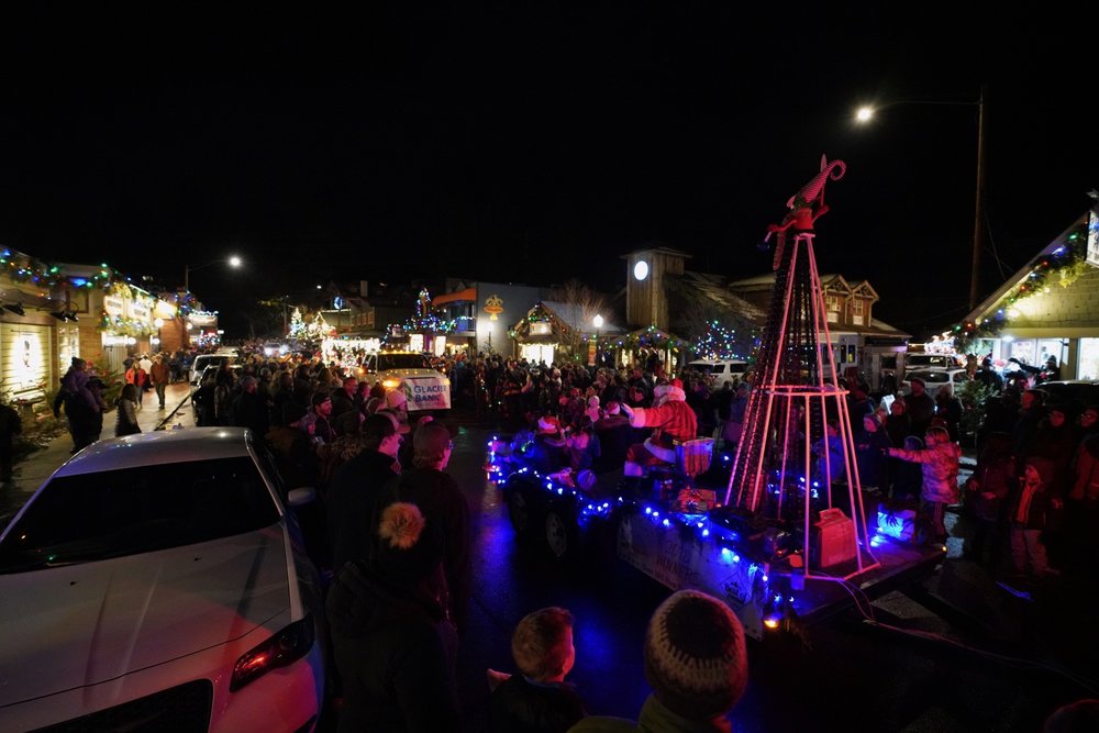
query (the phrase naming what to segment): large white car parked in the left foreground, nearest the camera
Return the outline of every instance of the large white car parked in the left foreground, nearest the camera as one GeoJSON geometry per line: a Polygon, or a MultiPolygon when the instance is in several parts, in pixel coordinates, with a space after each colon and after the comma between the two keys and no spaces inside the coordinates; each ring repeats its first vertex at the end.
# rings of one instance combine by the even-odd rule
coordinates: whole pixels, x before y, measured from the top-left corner
{"type": "Polygon", "coordinates": [[[0,534],[0,730],[310,731],[313,565],[241,427],[101,441],[0,534]]]}

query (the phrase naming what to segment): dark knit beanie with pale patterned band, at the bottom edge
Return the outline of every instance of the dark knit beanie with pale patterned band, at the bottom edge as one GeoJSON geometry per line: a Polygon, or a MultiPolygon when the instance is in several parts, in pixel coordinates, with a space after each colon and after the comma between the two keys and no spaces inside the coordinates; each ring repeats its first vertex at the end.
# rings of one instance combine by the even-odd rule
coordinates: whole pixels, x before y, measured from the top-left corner
{"type": "Polygon", "coordinates": [[[748,681],[740,620],[712,596],[674,593],[648,622],[645,679],[656,698],[684,718],[708,720],[728,712],[748,681]]]}

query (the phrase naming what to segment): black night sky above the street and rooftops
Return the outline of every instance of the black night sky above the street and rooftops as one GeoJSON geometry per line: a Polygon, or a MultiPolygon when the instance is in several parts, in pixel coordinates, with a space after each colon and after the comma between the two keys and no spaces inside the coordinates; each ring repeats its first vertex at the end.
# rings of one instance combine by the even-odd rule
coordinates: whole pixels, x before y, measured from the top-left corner
{"type": "Polygon", "coordinates": [[[652,242],[746,277],[826,153],[821,271],[922,333],[966,310],[976,109],[856,103],[988,85],[983,296],[1099,186],[1092,11],[413,4],[7,19],[0,244],[166,285],[238,253],[192,276],[223,313],[330,278],[613,290],[652,242]]]}

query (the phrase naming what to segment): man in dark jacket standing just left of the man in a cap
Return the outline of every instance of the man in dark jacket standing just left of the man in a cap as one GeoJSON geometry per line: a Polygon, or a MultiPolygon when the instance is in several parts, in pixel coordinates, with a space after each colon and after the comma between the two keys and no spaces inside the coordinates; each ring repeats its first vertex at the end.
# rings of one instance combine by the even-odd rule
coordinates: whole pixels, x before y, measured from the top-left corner
{"type": "Polygon", "coordinates": [[[329,541],[332,568],[338,573],[348,560],[371,555],[370,533],[365,531],[379,504],[379,496],[397,478],[395,464],[401,436],[386,415],[369,415],[359,429],[363,452],[336,468],[328,490],[329,541]]]}

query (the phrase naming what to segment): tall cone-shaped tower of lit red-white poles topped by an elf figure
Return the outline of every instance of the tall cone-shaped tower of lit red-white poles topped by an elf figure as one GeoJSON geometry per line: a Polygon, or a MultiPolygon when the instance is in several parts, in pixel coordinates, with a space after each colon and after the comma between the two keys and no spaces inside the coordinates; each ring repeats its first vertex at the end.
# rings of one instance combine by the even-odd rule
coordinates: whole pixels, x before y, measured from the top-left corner
{"type": "MultiPolygon", "coordinates": [[[[840,535],[845,546],[839,549],[850,559],[839,567],[852,577],[877,563],[868,552],[847,391],[836,380],[813,255],[813,222],[828,211],[824,185],[845,170],[843,162],[822,157],[820,174],[787,202],[790,211],[782,223],[768,227],[767,240],[778,235],[775,290],[725,504],[776,520],[800,535],[796,548],[803,557],[809,556],[804,551],[813,536],[814,512],[842,508],[854,520],[854,531],[840,535]],[[829,423],[835,426],[831,436],[829,423]],[[848,477],[841,491],[845,497],[833,497],[830,477],[837,476],[848,477]]],[[[830,554],[836,549],[833,542],[830,554]]],[[[814,564],[819,568],[821,562],[814,564]]],[[[812,565],[807,576],[813,575],[812,565]]]]}

